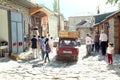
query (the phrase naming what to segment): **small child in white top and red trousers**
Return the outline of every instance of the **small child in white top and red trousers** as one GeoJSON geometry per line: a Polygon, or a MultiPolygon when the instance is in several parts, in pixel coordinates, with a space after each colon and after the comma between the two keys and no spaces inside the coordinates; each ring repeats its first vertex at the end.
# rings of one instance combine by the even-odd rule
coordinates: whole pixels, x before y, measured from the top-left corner
{"type": "Polygon", "coordinates": [[[109,42],[107,47],[107,57],[108,57],[108,64],[113,63],[112,55],[114,54],[114,47],[113,43],[109,42]]]}

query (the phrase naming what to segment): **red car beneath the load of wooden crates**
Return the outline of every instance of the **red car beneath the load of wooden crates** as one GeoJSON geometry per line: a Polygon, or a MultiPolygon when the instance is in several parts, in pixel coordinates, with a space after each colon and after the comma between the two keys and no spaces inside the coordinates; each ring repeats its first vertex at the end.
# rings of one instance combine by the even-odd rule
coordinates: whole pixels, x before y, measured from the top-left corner
{"type": "Polygon", "coordinates": [[[59,38],[56,51],[57,59],[70,58],[77,60],[79,54],[77,40],[75,38],[59,38]]]}

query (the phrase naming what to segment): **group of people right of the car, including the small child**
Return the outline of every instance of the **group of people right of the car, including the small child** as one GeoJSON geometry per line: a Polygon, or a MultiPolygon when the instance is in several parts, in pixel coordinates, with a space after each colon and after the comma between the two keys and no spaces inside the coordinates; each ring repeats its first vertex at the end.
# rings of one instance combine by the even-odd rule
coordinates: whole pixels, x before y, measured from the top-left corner
{"type": "Polygon", "coordinates": [[[107,55],[108,64],[113,63],[112,55],[114,54],[113,43],[108,41],[107,34],[104,30],[101,33],[95,33],[94,37],[91,37],[90,34],[86,35],[85,38],[87,55],[90,55],[92,51],[95,53],[99,52],[101,48],[102,55],[107,55]],[[95,49],[95,50],[94,50],[95,49]]]}

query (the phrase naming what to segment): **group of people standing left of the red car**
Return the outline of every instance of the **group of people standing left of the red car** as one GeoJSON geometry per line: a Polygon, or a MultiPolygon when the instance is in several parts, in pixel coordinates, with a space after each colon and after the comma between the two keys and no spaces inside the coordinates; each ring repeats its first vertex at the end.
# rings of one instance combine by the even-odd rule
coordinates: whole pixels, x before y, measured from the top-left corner
{"type": "Polygon", "coordinates": [[[47,59],[50,62],[49,53],[53,50],[53,37],[46,38],[33,35],[33,38],[31,39],[31,48],[34,58],[41,57],[44,63],[46,63],[47,59]]]}

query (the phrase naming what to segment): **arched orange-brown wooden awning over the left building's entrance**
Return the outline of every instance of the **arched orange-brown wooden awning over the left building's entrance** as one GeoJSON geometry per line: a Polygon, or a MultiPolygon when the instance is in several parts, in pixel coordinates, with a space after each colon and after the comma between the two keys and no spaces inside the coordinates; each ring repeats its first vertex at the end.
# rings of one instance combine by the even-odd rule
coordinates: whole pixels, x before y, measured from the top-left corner
{"type": "Polygon", "coordinates": [[[33,15],[37,12],[43,12],[45,13],[47,16],[50,16],[51,15],[51,12],[48,11],[47,9],[43,8],[43,7],[38,7],[38,8],[30,8],[29,9],[29,12],[30,12],[30,15],[33,15]]]}

